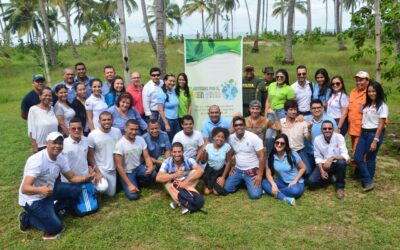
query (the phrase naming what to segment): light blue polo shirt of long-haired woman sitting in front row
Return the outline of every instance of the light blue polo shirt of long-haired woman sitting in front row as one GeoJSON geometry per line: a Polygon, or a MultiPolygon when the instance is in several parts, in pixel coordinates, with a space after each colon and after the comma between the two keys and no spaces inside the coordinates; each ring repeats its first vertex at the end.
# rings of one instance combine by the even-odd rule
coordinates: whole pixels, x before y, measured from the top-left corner
{"type": "MultiPolygon", "coordinates": [[[[297,164],[301,161],[299,154],[296,151],[292,151],[292,160],[294,166],[290,166],[286,153],[283,156],[283,159],[280,160],[277,154],[274,154],[274,169],[275,172],[278,173],[279,178],[289,184],[296,178],[299,173],[299,169],[297,168],[297,164]]],[[[299,183],[303,183],[304,179],[300,178],[299,183]]]]}

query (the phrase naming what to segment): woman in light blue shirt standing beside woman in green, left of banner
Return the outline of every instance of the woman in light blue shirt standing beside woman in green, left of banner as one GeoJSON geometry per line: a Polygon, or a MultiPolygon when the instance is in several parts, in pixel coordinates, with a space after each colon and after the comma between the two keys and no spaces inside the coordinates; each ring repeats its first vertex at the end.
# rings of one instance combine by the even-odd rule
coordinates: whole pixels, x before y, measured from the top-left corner
{"type": "Polygon", "coordinates": [[[174,86],[175,75],[166,74],[164,77],[164,85],[162,86],[163,91],[160,91],[157,97],[161,129],[168,133],[171,142],[175,134],[181,130],[178,120],[179,100],[174,86]]]}

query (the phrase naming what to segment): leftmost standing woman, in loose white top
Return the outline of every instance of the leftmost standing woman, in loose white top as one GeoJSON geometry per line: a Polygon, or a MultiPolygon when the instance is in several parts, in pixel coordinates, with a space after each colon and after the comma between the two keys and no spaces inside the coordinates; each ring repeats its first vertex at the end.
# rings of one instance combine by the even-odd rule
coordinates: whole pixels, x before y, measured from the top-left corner
{"type": "Polygon", "coordinates": [[[40,103],[32,106],[28,112],[28,136],[32,143],[32,153],[46,148],[47,135],[58,130],[58,120],[51,106],[51,88],[43,87],[39,91],[39,98],[40,103]]]}

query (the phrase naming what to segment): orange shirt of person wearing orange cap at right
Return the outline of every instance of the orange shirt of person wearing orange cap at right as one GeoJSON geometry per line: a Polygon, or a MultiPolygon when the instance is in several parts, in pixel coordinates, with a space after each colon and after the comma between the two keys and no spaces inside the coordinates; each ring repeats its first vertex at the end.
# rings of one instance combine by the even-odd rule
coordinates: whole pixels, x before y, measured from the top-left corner
{"type": "Polygon", "coordinates": [[[359,91],[357,88],[350,92],[349,113],[349,134],[352,136],[361,135],[362,112],[367,101],[367,90],[359,91]]]}

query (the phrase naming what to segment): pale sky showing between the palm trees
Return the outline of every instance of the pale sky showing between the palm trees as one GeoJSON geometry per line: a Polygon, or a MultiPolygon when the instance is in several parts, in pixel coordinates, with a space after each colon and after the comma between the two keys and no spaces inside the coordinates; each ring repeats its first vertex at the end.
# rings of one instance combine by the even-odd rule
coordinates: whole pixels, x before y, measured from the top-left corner
{"type": "MultiPolygon", "coordinates": [[[[8,1],[3,1],[8,2],[8,1]]],[[[136,1],[139,5],[138,11],[134,12],[132,15],[128,16],[126,14],[126,24],[127,24],[127,35],[132,37],[136,41],[141,41],[147,39],[147,33],[144,29],[143,25],[143,17],[141,12],[140,1],[136,1]]],[[[147,0],[147,4],[151,3],[152,0],[147,0]]],[[[182,6],[183,0],[171,0],[171,2],[177,3],[179,6],[182,6]]],[[[265,1],[267,2],[267,0],[265,1]]],[[[275,0],[268,1],[268,31],[280,30],[280,17],[272,17],[271,12],[273,9],[273,4],[275,0]]],[[[251,16],[252,29],[253,32],[255,30],[256,23],[256,10],[257,10],[257,0],[247,0],[249,5],[249,12],[251,16]]],[[[322,0],[311,0],[311,14],[312,14],[312,27],[321,27],[321,30],[325,30],[325,17],[326,10],[325,4],[322,0]]],[[[328,1],[328,30],[333,31],[334,29],[334,18],[333,18],[333,1],[328,1]]],[[[60,15],[61,16],[61,15],[60,15]]],[[[350,14],[347,12],[343,12],[343,29],[346,29],[350,26],[350,14]]],[[[62,18],[63,20],[64,18],[62,18]]],[[[71,18],[73,20],[73,17],[71,18]]],[[[220,21],[220,31],[223,32],[223,25],[225,22],[220,21]]],[[[295,24],[294,29],[298,31],[304,31],[306,29],[307,19],[306,16],[297,12],[295,13],[295,24]]],[[[261,26],[260,26],[261,28],[261,26]]],[[[84,31],[85,29],[82,28],[84,31]]],[[[286,30],[286,20],[285,20],[285,30],[286,30]]],[[[239,8],[234,12],[234,33],[244,35],[249,32],[249,23],[247,12],[244,4],[244,0],[240,0],[239,8]]],[[[167,35],[170,33],[176,34],[176,25],[173,29],[167,27],[167,35]]],[[[201,15],[199,12],[195,12],[192,16],[185,16],[183,18],[183,24],[179,27],[179,33],[183,33],[186,36],[195,35],[197,32],[201,33],[201,15]]],[[[206,32],[208,34],[212,33],[212,27],[208,27],[206,32]]],[[[226,33],[223,34],[224,37],[226,33]]],[[[74,40],[78,40],[78,27],[72,26],[72,36],[74,40]]],[[[155,29],[153,27],[153,36],[155,36],[155,29]]],[[[16,37],[14,37],[16,38],[16,37]]],[[[59,30],[58,34],[59,41],[66,41],[67,34],[62,29],[59,30]]]]}

